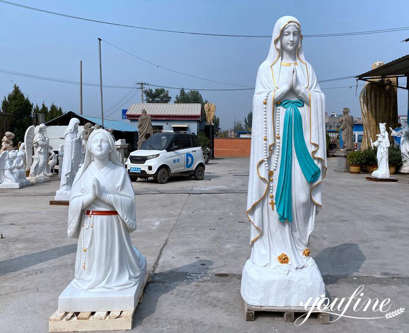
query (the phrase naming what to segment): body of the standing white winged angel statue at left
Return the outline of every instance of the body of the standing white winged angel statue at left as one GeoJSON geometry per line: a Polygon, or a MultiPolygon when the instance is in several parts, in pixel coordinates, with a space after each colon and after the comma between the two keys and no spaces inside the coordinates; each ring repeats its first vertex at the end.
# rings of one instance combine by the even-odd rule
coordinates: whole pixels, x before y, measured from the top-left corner
{"type": "MultiPolygon", "coordinates": [[[[46,125],[40,124],[35,128],[32,147],[34,147],[34,159],[30,168],[30,177],[41,179],[41,181],[49,180],[48,171],[48,156],[49,156],[49,137],[46,133],[46,125]]],[[[26,149],[28,142],[25,142],[26,149]]]]}

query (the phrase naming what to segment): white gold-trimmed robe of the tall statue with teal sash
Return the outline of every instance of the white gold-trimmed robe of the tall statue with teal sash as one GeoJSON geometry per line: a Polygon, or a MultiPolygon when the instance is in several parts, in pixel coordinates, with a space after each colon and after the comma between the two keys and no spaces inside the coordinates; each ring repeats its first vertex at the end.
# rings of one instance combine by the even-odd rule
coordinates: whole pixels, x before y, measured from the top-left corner
{"type": "MultiPolygon", "coordinates": [[[[275,27],[276,30],[276,27],[275,27]]],[[[280,36],[280,34],[277,34],[280,36]]],[[[274,37],[274,36],[273,36],[274,37]]],[[[277,38],[275,39],[277,40],[277,38]]],[[[271,49],[274,45],[271,46],[271,49]]],[[[270,53],[271,53],[270,49],[270,53]]],[[[291,170],[291,206],[292,222],[281,222],[277,213],[269,203],[268,171],[264,167],[263,155],[263,100],[266,92],[271,91],[267,99],[267,144],[269,148],[269,170],[276,154],[276,135],[283,138],[283,125],[286,110],[278,110],[275,94],[283,82],[285,71],[291,70],[290,64],[282,63],[281,58],[271,64],[267,58],[259,67],[256,89],[253,98],[252,144],[247,195],[247,217],[251,227],[251,260],[258,266],[275,268],[279,264],[281,253],[289,257],[288,269],[295,271],[306,267],[306,256],[309,235],[314,229],[315,216],[321,209],[321,182],[326,174],[326,133],[325,133],[325,97],[317,83],[312,66],[304,61],[300,50],[297,64],[297,78],[303,86],[301,97],[304,106],[299,108],[302,118],[302,131],[306,147],[313,162],[320,169],[319,177],[310,183],[301,170],[294,147],[292,147],[291,170]],[[280,114],[280,133],[276,133],[276,114],[280,114]]],[[[299,96],[290,91],[283,100],[300,100],[299,96]]],[[[292,124],[291,124],[292,125],[292,124]]],[[[277,193],[277,183],[280,174],[281,153],[277,169],[272,178],[274,196],[277,193]]],[[[274,198],[275,202],[278,198],[274,198]]]]}

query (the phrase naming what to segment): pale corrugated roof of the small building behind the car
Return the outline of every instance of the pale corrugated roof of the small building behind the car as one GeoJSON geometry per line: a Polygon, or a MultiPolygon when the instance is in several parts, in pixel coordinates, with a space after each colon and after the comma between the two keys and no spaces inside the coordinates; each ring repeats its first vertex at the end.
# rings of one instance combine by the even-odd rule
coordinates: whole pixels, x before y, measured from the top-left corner
{"type": "Polygon", "coordinates": [[[143,109],[148,115],[201,115],[200,103],[135,103],[131,104],[126,115],[141,115],[143,109]]]}

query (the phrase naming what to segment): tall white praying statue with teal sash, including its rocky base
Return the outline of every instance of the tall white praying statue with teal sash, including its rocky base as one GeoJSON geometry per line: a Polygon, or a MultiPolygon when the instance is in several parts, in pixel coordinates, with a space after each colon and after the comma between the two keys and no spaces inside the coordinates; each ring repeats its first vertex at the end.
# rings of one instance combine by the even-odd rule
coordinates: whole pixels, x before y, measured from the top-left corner
{"type": "Polygon", "coordinates": [[[247,195],[251,256],[241,295],[252,305],[300,306],[325,294],[309,236],[326,174],[325,97],[306,61],[301,25],[284,16],[257,73],[247,195]]]}

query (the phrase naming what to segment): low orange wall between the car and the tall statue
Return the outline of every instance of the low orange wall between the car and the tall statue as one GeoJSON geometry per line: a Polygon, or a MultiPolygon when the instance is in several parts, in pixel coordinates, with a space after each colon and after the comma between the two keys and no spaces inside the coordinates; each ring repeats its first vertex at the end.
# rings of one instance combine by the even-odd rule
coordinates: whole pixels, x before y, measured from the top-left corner
{"type": "Polygon", "coordinates": [[[215,157],[250,157],[251,138],[226,137],[214,139],[215,157]]]}

